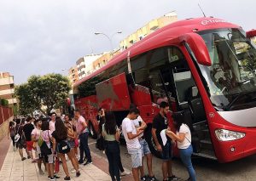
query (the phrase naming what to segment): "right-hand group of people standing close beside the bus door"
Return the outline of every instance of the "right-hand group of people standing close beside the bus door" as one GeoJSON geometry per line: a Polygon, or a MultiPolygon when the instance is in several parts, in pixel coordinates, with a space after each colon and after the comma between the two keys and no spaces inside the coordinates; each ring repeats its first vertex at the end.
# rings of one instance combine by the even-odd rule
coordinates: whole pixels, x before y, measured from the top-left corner
{"type": "MultiPolygon", "coordinates": [[[[161,153],[163,180],[175,181],[178,178],[172,173],[172,146],[177,143],[181,160],[189,172],[187,180],[195,181],[195,170],[192,166],[191,155],[193,152],[191,144],[191,133],[182,113],[173,114],[172,118],[177,129],[173,133],[168,127],[167,113],[169,105],[163,101],[160,103],[160,112],[154,116],[152,124],[152,136],[156,148],[161,153]]],[[[143,133],[147,124],[143,122],[140,111],[136,105],[131,105],[128,115],[123,120],[121,127],[117,126],[113,112],[105,113],[103,109],[99,110],[97,120],[100,122],[100,136],[105,141],[104,150],[108,158],[109,174],[112,180],[120,180],[120,167],[122,167],[119,151],[120,129],[125,137],[126,147],[131,156],[132,174],[135,181],[148,180],[154,181],[152,169],[153,156],[148,148],[148,143],[143,133]],[[146,158],[148,175],[144,172],[143,158],[146,158]]]]}

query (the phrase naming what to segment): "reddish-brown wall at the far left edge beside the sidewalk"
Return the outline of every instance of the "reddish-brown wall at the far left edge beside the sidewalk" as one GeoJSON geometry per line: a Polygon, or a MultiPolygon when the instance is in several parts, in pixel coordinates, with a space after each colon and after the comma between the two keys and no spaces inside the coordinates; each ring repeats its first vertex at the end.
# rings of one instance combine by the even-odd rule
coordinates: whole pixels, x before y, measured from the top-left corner
{"type": "Polygon", "coordinates": [[[0,106],[0,140],[8,134],[9,121],[13,118],[13,110],[0,106]]]}

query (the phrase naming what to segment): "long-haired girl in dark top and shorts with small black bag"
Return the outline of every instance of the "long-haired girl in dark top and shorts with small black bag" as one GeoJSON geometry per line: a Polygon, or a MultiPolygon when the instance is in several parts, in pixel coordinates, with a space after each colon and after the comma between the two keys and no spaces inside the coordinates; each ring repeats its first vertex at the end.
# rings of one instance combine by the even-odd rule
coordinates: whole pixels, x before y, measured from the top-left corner
{"type": "Polygon", "coordinates": [[[76,176],[79,177],[81,173],[79,172],[79,167],[77,165],[76,158],[70,152],[71,146],[67,142],[67,127],[65,127],[64,123],[59,117],[55,120],[55,131],[52,133],[52,137],[53,150],[56,150],[58,156],[61,158],[62,167],[64,172],[66,173],[66,177],[64,178],[64,180],[70,180],[65,154],[67,154],[68,158],[72,162],[72,165],[76,170],[76,176]]]}

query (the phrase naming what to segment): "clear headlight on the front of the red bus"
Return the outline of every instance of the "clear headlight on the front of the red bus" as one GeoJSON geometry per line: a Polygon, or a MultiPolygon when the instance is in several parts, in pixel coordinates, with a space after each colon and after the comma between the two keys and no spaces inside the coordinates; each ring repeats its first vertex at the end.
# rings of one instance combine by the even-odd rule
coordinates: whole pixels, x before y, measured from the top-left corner
{"type": "Polygon", "coordinates": [[[245,137],[245,133],[234,132],[227,129],[216,129],[215,134],[220,141],[232,141],[245,137]]]}

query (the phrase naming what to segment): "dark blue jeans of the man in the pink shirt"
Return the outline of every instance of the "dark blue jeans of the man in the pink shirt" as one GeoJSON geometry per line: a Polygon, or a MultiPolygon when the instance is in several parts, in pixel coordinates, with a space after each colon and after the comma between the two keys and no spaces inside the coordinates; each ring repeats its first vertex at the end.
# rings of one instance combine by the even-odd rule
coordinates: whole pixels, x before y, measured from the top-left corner
{"type": "Polygon", "coordinates": [[[87,157],[87,161],[91,162],[91,156],[90,156],[90,148],[88,145],[88,132],[82,133],[79,136],[80,139],[80,161],[83,161],[84,158],[84,152],[85,152],[85,156],[87,157]]]}

